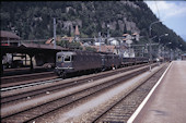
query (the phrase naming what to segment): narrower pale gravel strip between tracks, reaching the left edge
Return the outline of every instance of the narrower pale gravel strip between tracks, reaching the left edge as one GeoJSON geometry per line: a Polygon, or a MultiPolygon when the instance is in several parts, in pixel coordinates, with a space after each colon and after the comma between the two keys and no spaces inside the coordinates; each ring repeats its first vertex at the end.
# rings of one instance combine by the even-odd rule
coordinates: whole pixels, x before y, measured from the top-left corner
{"type": "MultiPolygon", "coordinates": [[[[136,70],[132,70],[132,71],[136,71],[136,70]]],[[[91,82],[91,83],[86,83],[84,85],[72,87],[70,89],[67,88],[67,89],[63,89],[61,91],[53,93],[53,95],[46,95],[46,96],[43,96],[43,97],[39,97],[39,98],[28,99],[26,101],[19,102],[19,103],[7,104],[4,107],[1,107],[1,116],[5,116],[5,115],[9,115],[9,114],[20,112],[22,110],[28,109],[30,107],[39,106],[42,103],[61,98],[61,97],[67,96],[67,95],[70,95],[72,93],[83,90],[88,87],[92,87],[92,86],[98,85],[101,83],[117,78],[119,76],[124,76],[128,73],[130,73],[130,72],[125,72],[125,73],[116,74],[116,75],[113,75],[113,76],[108,76],[108,77],[105,77],[105,78],[102,78],[102,79],[97,79],[97,81],[94,81],[94,82],[91,82]]]]}

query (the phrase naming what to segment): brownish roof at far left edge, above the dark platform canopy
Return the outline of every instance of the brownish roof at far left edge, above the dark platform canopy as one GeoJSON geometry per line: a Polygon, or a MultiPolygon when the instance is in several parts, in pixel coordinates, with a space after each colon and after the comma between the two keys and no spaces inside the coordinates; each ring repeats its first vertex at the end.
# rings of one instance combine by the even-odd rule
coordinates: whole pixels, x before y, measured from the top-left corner
{"type": "Polygon", "coordinates": [[[7,32],[7,30],[0,30],[0,38],[4,38],[4,39],[20,39],[21,37],[18,36],[16,34],[12,33],[12,32],[7,32]]]}

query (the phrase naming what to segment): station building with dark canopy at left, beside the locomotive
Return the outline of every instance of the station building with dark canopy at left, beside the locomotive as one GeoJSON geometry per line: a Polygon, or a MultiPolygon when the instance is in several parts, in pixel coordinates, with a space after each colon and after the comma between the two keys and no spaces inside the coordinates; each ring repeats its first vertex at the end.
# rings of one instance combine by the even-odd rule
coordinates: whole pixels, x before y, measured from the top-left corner
{"type": "MultiPolygon", "coordinates": [[[[0,32],[1,38],[1,72],[8,67],[15,67],[22,63],[22,66],[28,66],[31,70],[36,66],[55,65],[56,53],[65,50],[57,46],[54,49],[53,45],[40,45],[33,42],[24,42],[21,38],[7,30],[0,32]],[[14,64],[15,63],[15,64],[14,64]],[[14,64],[14,65],[13,65],[14,64]]],[[[3,72],[2,72],[3,73],[3,72]]]]}

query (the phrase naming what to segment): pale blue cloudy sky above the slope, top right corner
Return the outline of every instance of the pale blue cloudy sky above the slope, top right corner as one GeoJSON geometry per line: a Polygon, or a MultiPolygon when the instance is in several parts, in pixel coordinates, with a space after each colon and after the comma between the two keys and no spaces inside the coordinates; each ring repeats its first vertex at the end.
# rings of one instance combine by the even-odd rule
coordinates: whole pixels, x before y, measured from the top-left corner
{"type": "Polygon", "coordinates": [[[186,40],[186,1],[146,1],[152,12],[186,40]]]}

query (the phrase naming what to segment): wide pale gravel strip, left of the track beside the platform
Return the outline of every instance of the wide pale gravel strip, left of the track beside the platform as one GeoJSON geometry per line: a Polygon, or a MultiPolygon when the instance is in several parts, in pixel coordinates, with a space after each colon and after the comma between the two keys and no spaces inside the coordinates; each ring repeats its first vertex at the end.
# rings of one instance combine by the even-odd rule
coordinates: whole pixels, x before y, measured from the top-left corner
{"type": "MultiPolygon", "coordinates": [[[[133,84],[141,83],[147,76],[156,71],[160,66],[156,66],[152,70],[152,72],[146,72],[139,76],[136,76],[133,79],[129,79],[125,82],[123,85],[119,85],[115,88],[112,88],[107,93],[104,93],[97,97],[92,98],[81,104],[77,104],[77,107],[68,108],[66,110],[58,110],[53,115],[47,115],[45,118],[40,118],[36,120],[37,122],[89,122],[89,118],[91,118],[94,113],[96,113],[100,109],[106,107],[109,102],[117,100],[119,95],[124,95],[130,89],[133,84]]],[[[137,84],[137,85],[138,85],[137,84]]]]}

